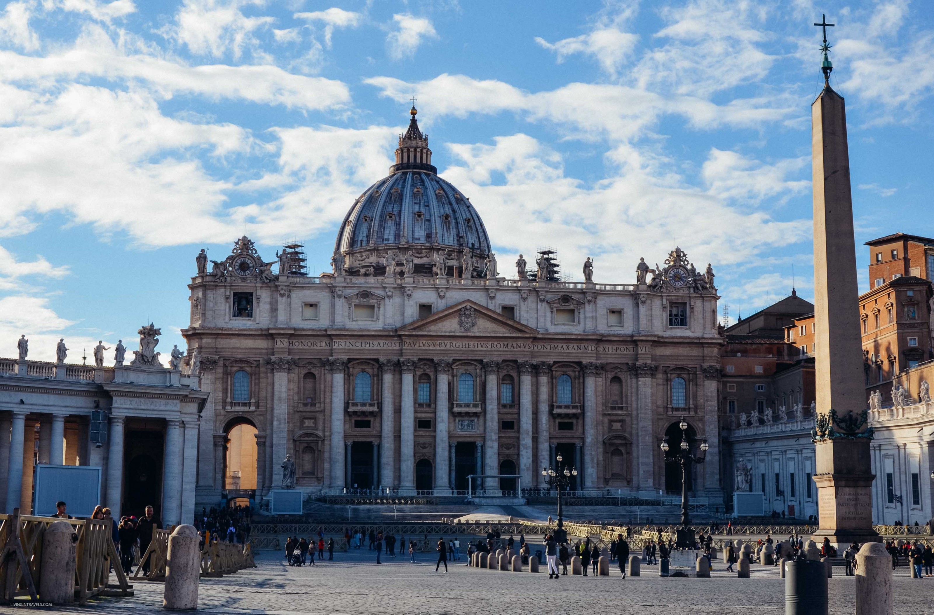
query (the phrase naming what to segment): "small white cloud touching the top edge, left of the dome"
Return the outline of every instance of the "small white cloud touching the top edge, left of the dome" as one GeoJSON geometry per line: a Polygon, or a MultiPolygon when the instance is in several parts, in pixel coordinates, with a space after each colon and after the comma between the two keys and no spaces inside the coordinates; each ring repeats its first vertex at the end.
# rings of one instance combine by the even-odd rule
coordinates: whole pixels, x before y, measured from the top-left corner
{"type": "Polygon", "coordinates": [[[241,7],[262,6],[263,0],[185,0],[176,14],[176,25],[163,34],[195,55],[239,59],[246,49],[262,53],[255,33],[270,28],[272,17],[247,17],[241,7]]]}

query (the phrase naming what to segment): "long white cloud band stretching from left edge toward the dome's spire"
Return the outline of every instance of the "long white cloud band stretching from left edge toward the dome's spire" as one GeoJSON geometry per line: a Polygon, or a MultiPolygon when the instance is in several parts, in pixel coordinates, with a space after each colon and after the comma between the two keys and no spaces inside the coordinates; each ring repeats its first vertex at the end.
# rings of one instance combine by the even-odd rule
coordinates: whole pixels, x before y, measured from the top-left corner
{"type": "Polygon", "coordinates": [[[347,86],[340,81],[292,75],[269,64],[186,66],[149,54],[127,54],[96,26],[85,28],[73,48],[45,57],[0,51],[2,81],[27,82],[43,89],[49,81],[80,77],[141,79],[166,98],[191,93],[304,109],[331,108],[350,100],[347,86]]]}

